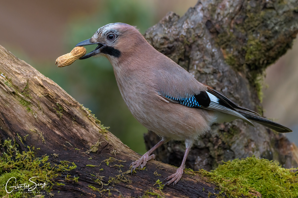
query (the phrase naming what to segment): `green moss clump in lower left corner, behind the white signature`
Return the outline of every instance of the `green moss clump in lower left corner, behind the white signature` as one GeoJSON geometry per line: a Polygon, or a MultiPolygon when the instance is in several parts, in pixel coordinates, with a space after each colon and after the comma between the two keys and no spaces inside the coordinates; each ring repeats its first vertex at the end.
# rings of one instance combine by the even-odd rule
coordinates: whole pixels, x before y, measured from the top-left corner
{"type": "MultiPolygon", "coordinates": [[[[16,184],[28,183],[29,179],[35,183],[47,184],[42,189],[35,189],[35,192],[45,190],[48,193],[54,185],[61,185],[54,181],[62,172],[67,172],[75,169],[77,166],[69,161],[60,161],[59,164],[53,164],[49,162],[49,156],[35,157],[35,148],[29,147],[28,151],[18,151],[19,145],[12,140],[7,139],[1,144],[1,156],[0,156],[0,197],[29,197],[31,194],[22,194],[15,192],[24,192],[20,189],[7,193],[5,186],[7,181],[15,177],[16,184]],[[70,166],[72,164],[72,166],[70,166]],[[35,178],[32,178],[35,177],[35,178]]],[[[66,176],[67,177],[67,176],[66,176]]],[[[69,178],[77,182],[78,178],[69,178]]],[[[14,186],[15,180],[10,180],[7,186],[14,186]],[[11,182],[10,182],[11,181],[11,182]]],[[[33,183],[31,183],[33,186],[33,183]]]]}

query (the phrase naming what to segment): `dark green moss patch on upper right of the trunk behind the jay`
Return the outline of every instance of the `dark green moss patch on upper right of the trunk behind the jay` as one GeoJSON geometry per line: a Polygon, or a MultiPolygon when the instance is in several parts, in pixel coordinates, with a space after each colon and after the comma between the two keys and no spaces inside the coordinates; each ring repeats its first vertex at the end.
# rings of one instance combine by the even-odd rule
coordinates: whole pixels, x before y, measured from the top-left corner
{"type": "Polygon", "coordinates": [[[227,64],[235,70],[249,71],[247,78],[262,100],[259,77],[291,48],[293,37],[288,33],[297,7],[290,8],[283,1],[271,2],[272,7],[265,1],[259,3],[259,6],[251,6],[249,1],[244,3],[234,23],[222,27],[215,41],[227,64]]]}

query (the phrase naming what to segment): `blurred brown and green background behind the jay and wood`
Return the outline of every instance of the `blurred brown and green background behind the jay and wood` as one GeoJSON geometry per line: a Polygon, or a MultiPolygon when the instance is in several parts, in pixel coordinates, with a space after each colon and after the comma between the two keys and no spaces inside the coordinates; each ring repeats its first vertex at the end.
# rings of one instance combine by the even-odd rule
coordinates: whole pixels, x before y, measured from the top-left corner
{"type": "MultiPolygon", "coordinates": [[[[76,61],[57,68],[55,60],[89,39],[101,26],[122,22],[143,34],[167,12],[182,16],[197,0],[10,0],[1,1],[0,45],[51,78],[78,102],[92,110],[110,132],[134,151],[146,152],[147,129],[131,115],[122,100],[111,64],[105,58],[76,61]],[[112,100],[111,100],[112,99],[112,100]]],[[[86,46],[87,52],[94,46],[86,46]]],[[[270,66],[264,81],[265,115],[296,133],[298,145],[298,42],[270,66]]]]}

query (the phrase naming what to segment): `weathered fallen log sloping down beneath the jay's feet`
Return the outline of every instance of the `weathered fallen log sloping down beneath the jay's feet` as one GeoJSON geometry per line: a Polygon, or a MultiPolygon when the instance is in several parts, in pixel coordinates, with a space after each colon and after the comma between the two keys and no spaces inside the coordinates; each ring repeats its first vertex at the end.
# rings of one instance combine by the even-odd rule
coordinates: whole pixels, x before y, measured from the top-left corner
{"type": "MultiPolygon", "coordinates": [[[[228,192],[233,186],[241,188],[235,180],[228,181],[224,189],[218,183],[224,181],[221,176],[214,181],[214,174],[191,170],[185,170],[187,174],[175,186],[162,188],[159,180],[173,174],[176,167],[154,160],[149,161],[144,170],[131,175],[129,164],[140,156],[108,132],[88,109],[51,79],[2,46],[0,73],[2,175],[8,174],[4,171],[26,169],[32,175],[20,177],[38,174],[47,178],[43,182],[53,184],[49,184],[51,188],[47,190],[55,197],[197,198],[208,197],[208,194],[216,197],[221,190],[228,192]],[[12,156],[7,156],[9,154],[12,156]]],[[[5,193],[3,186],[2,196],[11,195],[5,193]]],[[[258,192],[245,188],[250,195],[260,197],[258,192]]],[[[33,197],[32,194],[26,196],[33,197]]]]}

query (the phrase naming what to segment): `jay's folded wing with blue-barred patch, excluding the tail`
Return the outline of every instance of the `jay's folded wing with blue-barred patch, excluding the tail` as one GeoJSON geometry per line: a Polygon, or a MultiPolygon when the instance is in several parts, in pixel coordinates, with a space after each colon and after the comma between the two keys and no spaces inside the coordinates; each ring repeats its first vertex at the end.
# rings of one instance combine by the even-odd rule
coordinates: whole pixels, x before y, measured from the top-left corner
{"type": "Polygon", "coordinates": [[[160,69],[156,72],[156,79],[158,94],[170,102],[234,115],[254,126],[248,119],[238,113],[238,109],[255,115],[258,115],[257,113],[238,106],[220,92],[198,82],[181,67],[173,66],[170,69],[160,69]]]}

